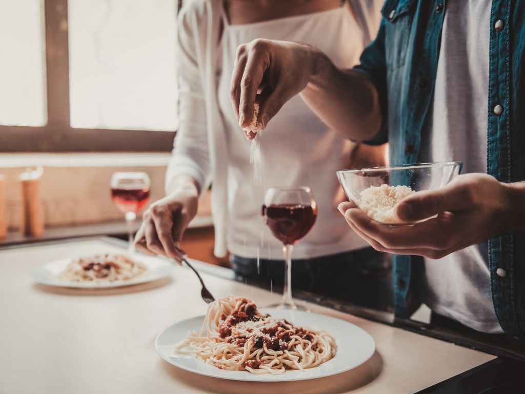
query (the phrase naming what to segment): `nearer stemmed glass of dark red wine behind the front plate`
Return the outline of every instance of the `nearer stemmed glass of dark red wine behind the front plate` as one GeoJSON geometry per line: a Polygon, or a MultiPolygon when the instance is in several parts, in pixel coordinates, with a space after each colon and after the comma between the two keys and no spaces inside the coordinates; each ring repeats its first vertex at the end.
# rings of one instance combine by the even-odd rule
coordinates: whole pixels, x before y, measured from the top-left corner
{"type": "Polygon", "coordinates": [[[262,219],[274,236],[282,242],[285,257],[285,281],[279,309],[301,309],[292,299],[291,256],[293,245],[308,234],[316,222],[317,204],[310,188],[270,188],[262,205],[262,219]]]}

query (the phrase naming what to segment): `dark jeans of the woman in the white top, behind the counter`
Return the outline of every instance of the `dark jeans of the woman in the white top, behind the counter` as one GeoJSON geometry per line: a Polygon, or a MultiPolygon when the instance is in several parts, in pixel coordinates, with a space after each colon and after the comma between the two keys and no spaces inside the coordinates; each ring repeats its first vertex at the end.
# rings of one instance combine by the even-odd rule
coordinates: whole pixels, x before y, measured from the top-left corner
{"type": "MultiPolygon", "coordinates": [[[[282,260],[232,255],[233,270],[248,283],[281,287],[282,260]]],[[[371,247],[292,261],[292,288],[380,310],[391,310],[392,261],[371,247]]]]}

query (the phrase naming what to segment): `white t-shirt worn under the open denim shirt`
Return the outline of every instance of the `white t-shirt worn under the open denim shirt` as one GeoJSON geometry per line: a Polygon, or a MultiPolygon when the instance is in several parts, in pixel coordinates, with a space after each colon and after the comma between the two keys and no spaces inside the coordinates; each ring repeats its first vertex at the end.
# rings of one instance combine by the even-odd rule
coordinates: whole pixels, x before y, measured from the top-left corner
{"type": "MultiPolygon", "coordinates": [[[[487,171],[490,8],[487,0],[447,1],[421,162],[463,161],[463,173],[487,171]]],[[[479,331],[502,332],[492,305],[487,242],[439,260],[425,258],[417,282],[434,312],[479,331]]]]}

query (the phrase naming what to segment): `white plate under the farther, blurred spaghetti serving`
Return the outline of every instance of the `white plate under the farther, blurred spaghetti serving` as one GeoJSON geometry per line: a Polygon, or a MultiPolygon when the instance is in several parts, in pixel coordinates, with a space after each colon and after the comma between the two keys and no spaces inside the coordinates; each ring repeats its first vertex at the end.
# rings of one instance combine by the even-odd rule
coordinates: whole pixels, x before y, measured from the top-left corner
{"type": "Polygon", "coordinates": [[[49,286],[59,287],[79,287],[79,288],[109,288],[109,287],[120,287],[136,285],[139,283],[157,281],[171,274],[173,264],[162,258],[134,255],[133,260],[140,261],[146,266],[146,271],[142,274],[125,281],[115,282],[78,282],[70,283],[62,281],[58,278],[59,275],[66,266],[71,262],[71,258],[62,258],[61,260],[55,260],[49,262],[43,266],[36,267],[31,272],[31,278],[35,282],[49,286]]]}

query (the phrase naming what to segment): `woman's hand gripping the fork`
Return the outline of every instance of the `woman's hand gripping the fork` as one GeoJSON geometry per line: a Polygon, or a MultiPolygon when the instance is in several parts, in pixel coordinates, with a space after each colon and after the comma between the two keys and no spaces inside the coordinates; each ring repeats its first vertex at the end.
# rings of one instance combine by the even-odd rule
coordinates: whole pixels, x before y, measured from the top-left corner
{"type": "Polygon", "coordinates": [[[181,263],[181,240],[197,213],[198,190],[192,183],[178,185],[172,193],[150,205],[143,215],[135,247],[152,254],[174,258],[181,263]]]}

